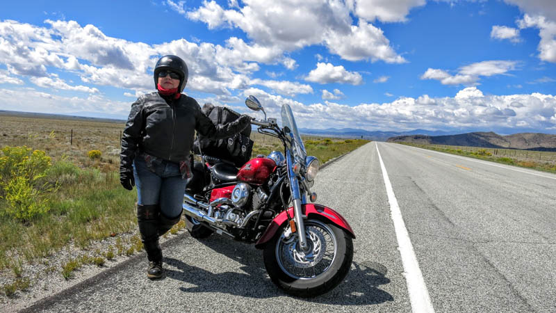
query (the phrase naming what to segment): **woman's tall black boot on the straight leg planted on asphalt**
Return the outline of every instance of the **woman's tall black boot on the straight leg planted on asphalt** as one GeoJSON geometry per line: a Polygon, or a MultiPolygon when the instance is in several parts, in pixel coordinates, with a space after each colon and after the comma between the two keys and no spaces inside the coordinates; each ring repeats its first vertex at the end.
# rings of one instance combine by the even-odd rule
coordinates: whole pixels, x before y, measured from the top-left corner
{"type": "Polygon", "coordinates": [[[162,249],[158,244],[158,216],[160,216],[158,204],[138,204],[137,223],[141,234],[141,242],[149,259],[147,277],[150,279],[161,278],[163,274],[162,249]]]}

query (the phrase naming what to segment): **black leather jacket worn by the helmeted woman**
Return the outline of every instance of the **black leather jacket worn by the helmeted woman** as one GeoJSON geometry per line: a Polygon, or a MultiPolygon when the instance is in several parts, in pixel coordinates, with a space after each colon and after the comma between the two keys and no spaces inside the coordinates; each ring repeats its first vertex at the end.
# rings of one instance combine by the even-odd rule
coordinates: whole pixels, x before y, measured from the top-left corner
{"type": "Polygon", "coordinates": [[[142,95],[131,105],[122,134],[120,172],[131,172],[136,152],[179,163],[189,159],[195,130],[215,139],[237,134],[250,125],[241,117],[227,125],[214,125],[192,97],[167,99],[158,92],[142,95]]]}

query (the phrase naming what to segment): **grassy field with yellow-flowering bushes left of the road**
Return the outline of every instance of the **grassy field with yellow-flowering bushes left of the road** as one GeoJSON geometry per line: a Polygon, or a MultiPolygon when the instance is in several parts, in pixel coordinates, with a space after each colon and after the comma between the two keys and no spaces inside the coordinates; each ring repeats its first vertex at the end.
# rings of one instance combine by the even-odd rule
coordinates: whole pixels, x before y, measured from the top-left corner
{"type": "MultiPolygon", "coordinates": [[[[105,266],[142,250],[136,192],[120,186],[121,122],[1,116],[0,294],[15,296],[40,275],[26,265],[71,279],[85,265],[105,266]],[[111,244],[97,248],[99,241],[111,244]],[[52,255],[67,251],[62,262],[52,255]]],[[[279,141],[252,134],[253,156],[282,150],[279,141]]],[[[304,138],[321,163],[368,141],[304,138]]],[[[183,230],[183,220],[170,230],[183,230]]],[[[169,236],[166,234],[165,236],[169,236]]]]}

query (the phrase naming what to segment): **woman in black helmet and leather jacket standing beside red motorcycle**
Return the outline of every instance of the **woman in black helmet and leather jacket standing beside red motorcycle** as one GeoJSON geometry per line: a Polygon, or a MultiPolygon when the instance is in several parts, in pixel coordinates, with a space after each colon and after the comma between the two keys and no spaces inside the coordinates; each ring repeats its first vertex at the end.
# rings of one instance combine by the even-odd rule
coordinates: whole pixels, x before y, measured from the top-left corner
{"type": "Polygon", "coordinates": [[[137,221],[151,279],[163,274],[158,236],[181,218],[195,131],[218,139],[250,125],[247,115],[227,125],[214,125],[195,99],[181,94],[187,80],[188,68],[181,58],[160,58],[154,67],[157,91],[142,95],[131,105],[122,134],[120,182],[128,190],[137,183],[137,221]]]}

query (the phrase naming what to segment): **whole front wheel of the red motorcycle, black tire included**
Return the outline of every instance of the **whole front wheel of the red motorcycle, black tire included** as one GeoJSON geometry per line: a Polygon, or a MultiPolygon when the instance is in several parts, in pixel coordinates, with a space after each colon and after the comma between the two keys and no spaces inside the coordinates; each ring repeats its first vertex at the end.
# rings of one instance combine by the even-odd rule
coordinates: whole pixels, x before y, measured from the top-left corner
{"type": "Polygon", "coordinates": [[[282,237],[287,223],[267,244],[263,259],[270,279],[278,287],[292,296],[311,298],[327,293],[343,281],[351,268],[353,241],[350,234],[329,220],[309,218],[304,224],[311,252],[316,255],[313,262],[303,257],[295,259],[299,257],[297,236],[291,236],[293,242],[282,237]],[[332,250],[330,246],[334,246],[332,250]]]}

